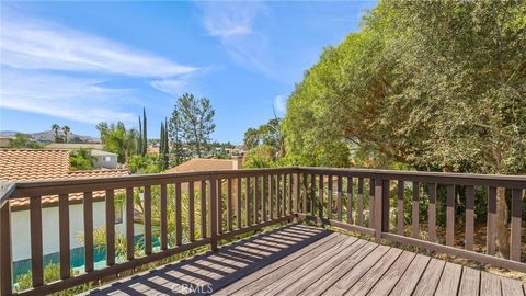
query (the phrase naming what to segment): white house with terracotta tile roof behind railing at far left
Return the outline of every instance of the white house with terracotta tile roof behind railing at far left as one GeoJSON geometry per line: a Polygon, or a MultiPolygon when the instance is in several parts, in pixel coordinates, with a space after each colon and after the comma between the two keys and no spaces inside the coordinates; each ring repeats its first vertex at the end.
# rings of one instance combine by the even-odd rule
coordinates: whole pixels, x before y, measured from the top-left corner
{"type": "MultiPolygon", "coordinates": [[[[67,149],[0,149],[0,183],[30,180],[69,180],[84,178],[107,178],[128,175],[127,170],[84,170],[70,171],[69,150],[67,149]]],[[[123,191],[116,190],[115,194],[123,191]]],[[[93,227],[105,225],[105,192],[93,192],[93,227]]],[[[71,265],[83,265],[83,242],[79,237],[83,231],[83,194],[69,194],[71,265]]],[[[30,240],[30,201],[22,198],[11,202],[12,212],[12,255],[13,274],[23,274],[31,270],[30,240]]],[[[42,197],[43,220],[43,253],[45,264],[58,262],[59,229],[58,229],[58,195],[42,197]]],[[[124,204],[116,205],[116,232],[125,232],[126,217],[124,204]]],[[[136,235],[142,234],[142,228],[136,225],[136,235]]],[[[99,259],[103,259],[100,254],[99,259]]]]}

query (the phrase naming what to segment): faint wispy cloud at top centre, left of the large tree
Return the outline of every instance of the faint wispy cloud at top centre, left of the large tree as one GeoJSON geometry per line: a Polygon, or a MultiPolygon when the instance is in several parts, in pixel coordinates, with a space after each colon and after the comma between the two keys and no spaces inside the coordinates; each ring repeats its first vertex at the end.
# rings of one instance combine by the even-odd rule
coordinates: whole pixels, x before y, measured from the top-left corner
{"type": "Polygon", "coordinates": [[[256,30],[267,11],[262,2],[205,2],[198,4],[203,25],[238,65],[272,76],[275,66],[268,37],[256,30]]]}

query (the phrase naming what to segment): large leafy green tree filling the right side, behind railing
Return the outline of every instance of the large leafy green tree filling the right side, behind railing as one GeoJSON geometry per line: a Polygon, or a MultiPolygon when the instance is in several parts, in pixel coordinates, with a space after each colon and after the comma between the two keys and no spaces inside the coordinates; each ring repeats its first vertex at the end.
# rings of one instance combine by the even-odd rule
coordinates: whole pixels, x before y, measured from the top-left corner
{"type": "MultiPolygon", "coordinates": [[[[381,1],[290,95],[287,158],[526,173],[526,3],[381,1]]],[[[499,191],[499,248],[507,257],[499,191]]]]}

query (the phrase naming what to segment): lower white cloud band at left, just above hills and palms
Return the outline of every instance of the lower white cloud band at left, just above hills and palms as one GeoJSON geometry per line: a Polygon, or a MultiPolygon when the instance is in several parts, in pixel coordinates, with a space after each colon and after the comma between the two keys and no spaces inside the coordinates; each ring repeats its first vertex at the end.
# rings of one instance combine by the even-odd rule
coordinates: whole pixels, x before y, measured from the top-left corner
{"type": "Polygon", "coordinates": [[[132,90],[104,88],[93,79],[1,71],[0,107],[93,124],[135,121],[134,114],[123,111],[138,103],[132,90]]]}

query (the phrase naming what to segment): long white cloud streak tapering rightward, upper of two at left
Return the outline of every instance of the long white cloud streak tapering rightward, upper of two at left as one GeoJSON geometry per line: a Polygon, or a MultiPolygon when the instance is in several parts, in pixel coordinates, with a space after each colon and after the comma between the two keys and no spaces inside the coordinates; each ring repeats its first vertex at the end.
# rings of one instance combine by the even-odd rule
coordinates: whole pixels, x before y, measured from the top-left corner
{"type": "Polygon", "coordinates": [[[170,77],[198,70],[106,38],[23,16],[2,20],[1,41],[1,62],[21,69],[138,77],[170,77]]]}

